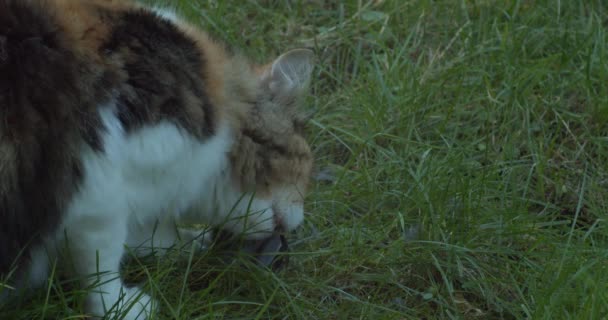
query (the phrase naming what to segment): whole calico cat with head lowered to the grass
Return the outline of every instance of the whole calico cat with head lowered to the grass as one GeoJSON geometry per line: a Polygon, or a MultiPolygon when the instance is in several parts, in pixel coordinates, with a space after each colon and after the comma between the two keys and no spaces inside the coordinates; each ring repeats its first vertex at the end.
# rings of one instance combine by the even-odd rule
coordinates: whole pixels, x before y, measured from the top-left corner
{"type": "Polygon", "coordinates": [[[89,314],[136,301],[125,319],[146,319],[125,246],[171,246],[177,224],[298,227],[312,69],[310,50],[254,65],[131,1],[0,0],[0,274],[41,285],[65,254],[98,285],[89,314]]]}

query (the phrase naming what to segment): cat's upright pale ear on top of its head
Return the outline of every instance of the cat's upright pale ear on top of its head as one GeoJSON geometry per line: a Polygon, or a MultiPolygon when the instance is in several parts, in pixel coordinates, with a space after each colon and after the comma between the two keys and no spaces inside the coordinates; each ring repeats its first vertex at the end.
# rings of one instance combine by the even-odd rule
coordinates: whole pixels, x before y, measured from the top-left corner
{"type": "Polygon", "coordinates": [[[314,53],[295,49],[279,56],[264,73],[267,89],[275,97],[295,98],[308,89],[314,53]]]}

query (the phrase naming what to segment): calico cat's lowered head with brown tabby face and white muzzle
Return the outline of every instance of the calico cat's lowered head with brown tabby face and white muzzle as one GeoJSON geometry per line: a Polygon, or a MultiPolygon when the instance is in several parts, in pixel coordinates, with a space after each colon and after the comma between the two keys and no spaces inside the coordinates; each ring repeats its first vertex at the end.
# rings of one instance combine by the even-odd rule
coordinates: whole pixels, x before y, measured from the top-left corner
{"type": "Polygon", "coordinates": [[[274,227],[283,231],[304,219],[313,155],[303,104],[313,62],[312,51],[297,49],[257,69],[255,103],[231,155],[234,178],[244,191],[270,201],[274,227]]]}

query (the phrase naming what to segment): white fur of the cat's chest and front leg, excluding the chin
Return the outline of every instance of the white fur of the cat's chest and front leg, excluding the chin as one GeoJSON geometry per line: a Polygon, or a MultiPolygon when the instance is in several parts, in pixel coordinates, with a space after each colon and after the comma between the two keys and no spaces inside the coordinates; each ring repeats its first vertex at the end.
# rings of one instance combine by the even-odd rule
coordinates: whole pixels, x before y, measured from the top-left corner
{"type": "MultiPolygon", "coordinates": [[[[172,217],[213,192],[209,181],[226,166],[230,132],[220,126],[216,135],[201,143],[174,124],[161,122],[126,135],[114,105],[103,106],[100,115],[106,128],[104,152],[84,149],[84,180],[57,237],[62,239],[65,231],[81,276],[105,272],[89,278],[91,284],[101,283],[99,293],[88,297],[90,312],[111,313],[109,308],[116,302],[123,305],[137,298],[140,303],[126,319],[145,319],[152,312],[149,297],[125,288],[119,277],[124,245],[151,238],[159,218],[164,217],[166,225],[174,224],[172,217]]],[[[166,225],[163,231],[170,230],[166,225]]],[[[175,241],[168,233],[162,245],[175,241]]]]}

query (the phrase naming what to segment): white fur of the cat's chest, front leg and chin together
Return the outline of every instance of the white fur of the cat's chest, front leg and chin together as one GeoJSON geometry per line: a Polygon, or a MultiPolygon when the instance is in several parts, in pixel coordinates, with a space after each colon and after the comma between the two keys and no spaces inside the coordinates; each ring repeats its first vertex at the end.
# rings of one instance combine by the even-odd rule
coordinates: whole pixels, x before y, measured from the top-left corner
{"type": "Polygon", "coordinates": [[[250,238],[265,237],[275,225],[273,203],[235,189],[227,125],[218,126],[203,142],[170,122],[127,135],[115,111],[114,104],[100,108],[104,151],[84,147],[84,178],[68,205],[56,246],[65,244],[78,275],[98,285],[87,298],[89,312],[114,314],[112,306],[138,301],[124,319],[147,319],[154,301],[137,288],[126,288],[120,279],[125,245],[144,252],[169,247],[179,238],[178,222],[220,225],[250,238]]]}

